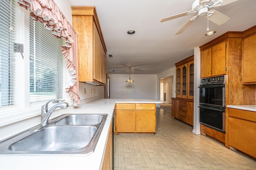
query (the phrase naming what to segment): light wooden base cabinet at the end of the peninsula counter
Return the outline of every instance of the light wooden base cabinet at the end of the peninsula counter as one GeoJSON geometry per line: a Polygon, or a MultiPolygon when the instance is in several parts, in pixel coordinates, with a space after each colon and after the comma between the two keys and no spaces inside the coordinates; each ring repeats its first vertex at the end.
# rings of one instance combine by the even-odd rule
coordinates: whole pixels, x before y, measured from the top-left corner
{"type": "Polygon", "coordinates": [[[156,104],[116,104],[116,133],[155,133],[156,104]]]}

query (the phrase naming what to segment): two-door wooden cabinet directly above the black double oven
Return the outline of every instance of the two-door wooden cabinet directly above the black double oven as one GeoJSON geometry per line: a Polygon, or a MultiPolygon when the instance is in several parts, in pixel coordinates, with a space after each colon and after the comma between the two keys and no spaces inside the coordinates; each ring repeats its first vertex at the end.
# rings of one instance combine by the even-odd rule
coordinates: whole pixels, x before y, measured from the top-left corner
{"type": "Polygon", "coordinates": [[[201,78],[226,74],[226,42],[201,51],[201,78]]]}

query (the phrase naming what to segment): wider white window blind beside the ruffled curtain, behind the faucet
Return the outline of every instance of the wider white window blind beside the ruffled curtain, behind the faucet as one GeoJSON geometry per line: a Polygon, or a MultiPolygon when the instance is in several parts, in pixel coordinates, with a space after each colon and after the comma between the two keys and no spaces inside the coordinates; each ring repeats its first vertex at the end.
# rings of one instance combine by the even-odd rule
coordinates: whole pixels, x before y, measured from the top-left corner
{"type": "Polygon", "coordinates": [[[64,41],[30,17],[30,103],[62,98],[64,41]]]}

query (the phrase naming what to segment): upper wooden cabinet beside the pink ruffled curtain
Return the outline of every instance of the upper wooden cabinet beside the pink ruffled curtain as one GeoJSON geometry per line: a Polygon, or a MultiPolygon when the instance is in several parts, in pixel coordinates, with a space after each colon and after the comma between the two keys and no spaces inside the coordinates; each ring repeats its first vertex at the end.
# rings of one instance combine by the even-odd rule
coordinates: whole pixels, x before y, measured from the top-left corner
{"type": "Polygon", "coordinates": [[[106,84],[106,45],[94,6],[72,6],[78,33],[79,82],[106,84]]]}

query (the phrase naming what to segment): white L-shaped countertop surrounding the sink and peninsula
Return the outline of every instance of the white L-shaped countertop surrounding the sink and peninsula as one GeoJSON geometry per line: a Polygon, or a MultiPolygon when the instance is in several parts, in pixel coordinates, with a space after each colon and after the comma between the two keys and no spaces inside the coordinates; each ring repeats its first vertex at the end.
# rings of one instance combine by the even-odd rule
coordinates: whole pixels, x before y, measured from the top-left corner
{"type": "MultiPolygon", "coordinates": [[[[108,114],[106,123],[98,140],[97,146],[92,154],[68,155],[0,155],[0,168],[3,170],[99,170],[104,156],[108,130],[112,120],[112,113],[116,103],[163,103],[161,100],[144,99],[98,99],[74,109],[64,111],[68,113],[105,113],[108,114]]],[[[112,129],[110,129],[112,130],[112,129]]]]}

